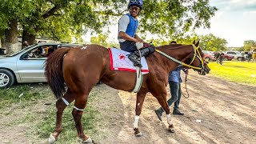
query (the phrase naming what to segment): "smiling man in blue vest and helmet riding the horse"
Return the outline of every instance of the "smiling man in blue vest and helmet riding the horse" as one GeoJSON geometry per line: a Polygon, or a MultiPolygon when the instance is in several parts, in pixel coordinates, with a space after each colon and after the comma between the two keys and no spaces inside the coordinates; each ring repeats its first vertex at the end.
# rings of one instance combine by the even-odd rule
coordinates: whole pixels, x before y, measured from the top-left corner
{"type": "Polygon", "coordinates": [[[143,42],[144,49],[141,51],[141,56],[146,56],[154,53],[154,46],[144,42],[142,38],[139,38],[136,34],[138,28],[137,16],[140,14],[143,7],[142,0],[130,0],[128,4],[128,10],[130,14],[124,14],[118,22],[118,41],[121,50],[131,52],[128,58],[131,62],[134,62],[134,66],[142,67],[139,62],[139,53],[136,42],[143,42]]]}

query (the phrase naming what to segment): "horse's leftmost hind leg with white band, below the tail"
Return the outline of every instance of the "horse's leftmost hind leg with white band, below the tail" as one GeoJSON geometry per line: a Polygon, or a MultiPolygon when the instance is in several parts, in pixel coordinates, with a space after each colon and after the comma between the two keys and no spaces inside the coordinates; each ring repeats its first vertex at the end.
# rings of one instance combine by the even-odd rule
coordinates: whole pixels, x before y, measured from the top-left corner
{"type": "Polygon", "coordinates": [[[57,108],[57,116],[56,116],[56,128],[54,131],[54,134],[50,134],[49,142],[54,143],[58,135],[62,132],[62,114],[63,111],[65,110],[66,106],[74,101],[74,95],[70,90],[68,89],[66,94],[63,96],[64,99],[60,98],[56,102],[56,108],[57,108]]]}

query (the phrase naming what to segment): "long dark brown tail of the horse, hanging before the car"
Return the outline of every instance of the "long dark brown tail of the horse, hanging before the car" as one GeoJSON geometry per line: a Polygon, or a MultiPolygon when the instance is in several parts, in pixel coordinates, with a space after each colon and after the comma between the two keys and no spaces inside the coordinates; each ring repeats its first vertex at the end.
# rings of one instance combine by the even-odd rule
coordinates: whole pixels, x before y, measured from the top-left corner
{"type": "Polygon", "coordinates": [[[62,62],[64,55],[70,51],[70,48],[61,48],[50,54],[45,63],[45,75],[50,86],[54,92],[55,98],[62,98],[66,92],[66,84],[62,73],[62,62]]]}

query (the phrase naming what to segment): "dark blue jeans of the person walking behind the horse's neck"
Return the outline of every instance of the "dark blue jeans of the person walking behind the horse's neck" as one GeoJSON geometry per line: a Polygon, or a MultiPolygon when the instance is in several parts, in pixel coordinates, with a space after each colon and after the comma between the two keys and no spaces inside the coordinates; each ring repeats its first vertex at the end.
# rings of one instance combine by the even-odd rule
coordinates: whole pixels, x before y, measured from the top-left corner
{"type": "MultiPolygon", "coordinates": [[[[168,99],[168,101],[167,101],[168,106],[171,106],[171,104],[174,103],[174,110],[178,110],[178,105],[179,105],[179,102],[181,101],[181,97],[182,97],[181,83],[170,81],[169,86],[170,86],[171,98],[168,99]]],[[[160,110],[161,112],[164,111],[162,108],[160,108],[158,110],[160,110]]]]}

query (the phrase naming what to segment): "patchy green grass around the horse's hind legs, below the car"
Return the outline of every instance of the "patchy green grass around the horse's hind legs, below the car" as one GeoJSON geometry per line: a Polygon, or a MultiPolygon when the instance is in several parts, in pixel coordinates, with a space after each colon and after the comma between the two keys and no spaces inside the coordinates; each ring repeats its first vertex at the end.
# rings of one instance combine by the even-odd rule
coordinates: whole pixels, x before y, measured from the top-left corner
{"type": "MultiPolygon", "coordinates": [[[[101,125],[99,122],[102,121],[101,114],[94,106],[98,102],[97,94],[100,94],[99,90],[91,91],[82,115],[82,126],[86,134],[94,140],[97,140],[96,134],[100,132],[96,127],[101,125]]],[[[19,125],[28,126],[26,136],[33,139],[33,142],[46,141],[50,133],[55,130],[55,102],[54,94],[47,85],[17,85],[8,89],[0,89],[0,116],[14,119],[14,121],[5,122],[5,126],[9,128],[19,125]],[[48,102],[51,104],[45,105],[48,102]]],[[[74,102],[64,110],[63,131],[56,143],[77,142],[77,130],[72,116],[73,106],[74,102]]]]}

